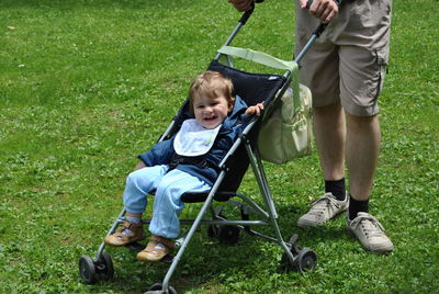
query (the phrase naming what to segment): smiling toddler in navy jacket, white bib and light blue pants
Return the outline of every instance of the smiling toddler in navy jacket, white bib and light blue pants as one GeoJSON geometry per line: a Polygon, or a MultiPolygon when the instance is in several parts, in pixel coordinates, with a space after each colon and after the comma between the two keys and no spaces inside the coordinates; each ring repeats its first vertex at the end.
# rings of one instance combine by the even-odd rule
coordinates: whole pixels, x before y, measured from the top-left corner
{"type": "Polygon", "coordinates": [[[153,236],[137,259],[156,262],[172,251],[184,207],[181,195],[212,188],[221,171],[218,163],[248,117],[259,115],[263,109],[261,103],[247,108],[233,92],[232,81],[216,71],[205,71],[193,80],[189,108],[195,118],[185,120],[175,136],[138,156],[142,161],[127,177],[123,194],[126,220],[116,233],[105,237],[106,245],[125,246],[145,239],[142,214],[147,194],[155,192],[149,225],[153,236]]]}

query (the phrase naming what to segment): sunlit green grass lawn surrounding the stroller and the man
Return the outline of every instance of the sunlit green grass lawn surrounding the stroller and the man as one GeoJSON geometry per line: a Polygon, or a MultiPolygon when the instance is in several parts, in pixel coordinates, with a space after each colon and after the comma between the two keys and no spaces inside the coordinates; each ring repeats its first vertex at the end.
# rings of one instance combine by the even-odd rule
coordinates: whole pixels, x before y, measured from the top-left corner
{"type": "MultiPolygon", "coordinates": [[[[290,58],[292,7],[258,4],[234,44],[290,58]]],[[[313,154],[266,171],[282,233],[318,253],[316,271],[280,269],[282,250],[263,240],[243,235],[225,247],[202,230],[172,279],[180,293],[437,292],[437,14],[435,1],[394,1],[371,211],[395,251],[364,252],[342,217],[295,226],[323,189],[313,154]]],[[[162,279],[166,265],[139,264],[122,249],[108,249],[110,282],[82,284],[77,262],[94,255],[135,156],[164,132],[238,18],[227,1],[1,1],[0,293],[143,293],[162,279]]],[[[241,190],[257,195],[251,173],[241,190]]]]}

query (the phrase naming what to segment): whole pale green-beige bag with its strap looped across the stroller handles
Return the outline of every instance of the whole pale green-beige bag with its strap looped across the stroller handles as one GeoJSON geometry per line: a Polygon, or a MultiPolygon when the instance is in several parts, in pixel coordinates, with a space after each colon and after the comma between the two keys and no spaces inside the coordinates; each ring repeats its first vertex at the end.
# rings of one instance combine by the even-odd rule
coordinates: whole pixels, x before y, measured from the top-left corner
{"type": "Polygon", "coordinates": [[[292,88],[273,105],[275,109],[271,115],[262,118],[258,147],[263,160],[278,165],[309,155],[313,134],[312,97],[308,88],[299,84],[299,65],[262,52],[230,46],[223,46],[218,53],[291,71],[292,88]]]}

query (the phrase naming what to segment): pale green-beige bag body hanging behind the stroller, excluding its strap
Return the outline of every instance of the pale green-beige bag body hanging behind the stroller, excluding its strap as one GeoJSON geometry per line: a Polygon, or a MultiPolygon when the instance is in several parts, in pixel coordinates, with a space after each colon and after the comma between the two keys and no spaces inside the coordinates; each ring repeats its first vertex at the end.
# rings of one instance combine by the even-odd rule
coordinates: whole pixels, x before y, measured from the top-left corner
{"type": "Polygon", "coordinates": [[[289,88],[262,123],[258,147],[263,160],[281,165],[312,152],[312,95],[305,86],[299,88],[300,108],[295,110],[293,89],[289,88]]]}

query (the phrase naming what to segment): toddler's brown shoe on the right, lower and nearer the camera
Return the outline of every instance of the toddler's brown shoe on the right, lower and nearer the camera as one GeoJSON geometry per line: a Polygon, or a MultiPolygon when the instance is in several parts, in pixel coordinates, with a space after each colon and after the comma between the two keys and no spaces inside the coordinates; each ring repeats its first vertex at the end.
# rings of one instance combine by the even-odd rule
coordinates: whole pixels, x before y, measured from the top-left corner
{"type": "Polygon", "coordinates": [[[175,247],[176,245],[172,240],[153,235],[146,248],[138,252],[137,260],[157,262],[172,252],[175,247]]]}

